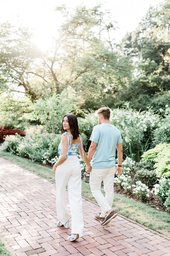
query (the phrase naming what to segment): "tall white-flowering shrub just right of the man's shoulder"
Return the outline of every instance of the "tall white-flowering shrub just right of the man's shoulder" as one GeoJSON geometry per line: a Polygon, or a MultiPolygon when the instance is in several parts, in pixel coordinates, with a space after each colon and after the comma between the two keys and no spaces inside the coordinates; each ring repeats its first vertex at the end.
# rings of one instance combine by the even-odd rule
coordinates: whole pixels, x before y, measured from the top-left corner
{"type": "Polygon", "coordinates": [[[140,113],[130,108],[113,109],[111,123],[121,131],[124,154],[139,160],[140,155],[151,143],[154,129],[160,123],[160,117],[152,110],[140,113]]]}

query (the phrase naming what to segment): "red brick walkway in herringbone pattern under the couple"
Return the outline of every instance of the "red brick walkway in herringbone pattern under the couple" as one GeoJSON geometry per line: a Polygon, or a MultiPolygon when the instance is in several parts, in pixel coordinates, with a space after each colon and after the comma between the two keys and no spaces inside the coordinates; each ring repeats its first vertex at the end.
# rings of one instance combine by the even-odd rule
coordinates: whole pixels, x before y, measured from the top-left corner
{"type": "Polygon", "coordinates": [[[70,229],[57,227],[55,184],[0,158],[1,236],[17,256],[169,255],[170,238],[117,216],[102,228],[99,207],[83,198],[84,237],[66,241],[70,229]]]}

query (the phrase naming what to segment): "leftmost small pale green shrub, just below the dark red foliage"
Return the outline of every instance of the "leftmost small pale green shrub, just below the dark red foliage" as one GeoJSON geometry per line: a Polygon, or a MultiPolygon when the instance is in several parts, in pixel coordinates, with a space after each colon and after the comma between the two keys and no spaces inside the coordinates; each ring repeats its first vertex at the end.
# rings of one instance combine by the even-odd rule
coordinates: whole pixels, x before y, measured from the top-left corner
{"type": "Polygon", "coordinates": [[[2,143],[3,150],[9,151],[13,154],[17,153],[18,145],[24,140],[20,135],[7,135],[5,141],[2,143]]]}

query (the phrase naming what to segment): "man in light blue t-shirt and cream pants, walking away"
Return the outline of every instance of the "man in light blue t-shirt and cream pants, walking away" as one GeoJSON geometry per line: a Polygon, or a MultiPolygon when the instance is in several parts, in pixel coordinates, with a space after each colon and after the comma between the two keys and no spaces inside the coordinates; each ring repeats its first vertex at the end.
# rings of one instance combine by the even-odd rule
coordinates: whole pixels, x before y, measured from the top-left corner
{"type": "MultiPolygon", "coordinates": [[[[95,214],[95,218],[101,222],[101,226],[108,224],[117,213],[112,210],[114,197],[114,174],[122,173],[123,147],[121,132],[109,123],[110,109],[100,108],[97,111],[98,123],[91,133],[91,145],[88,159],[91,161],[90,189],[101,207],[101,213],[95,214]],[[117,148],[118,166],[115,168],[115,151],[117,148]],[[104,183],[105,197],[101,193],[101,182],[104,183]]],[[[88,172],[88,171],[87,171],[88,172]]]]}

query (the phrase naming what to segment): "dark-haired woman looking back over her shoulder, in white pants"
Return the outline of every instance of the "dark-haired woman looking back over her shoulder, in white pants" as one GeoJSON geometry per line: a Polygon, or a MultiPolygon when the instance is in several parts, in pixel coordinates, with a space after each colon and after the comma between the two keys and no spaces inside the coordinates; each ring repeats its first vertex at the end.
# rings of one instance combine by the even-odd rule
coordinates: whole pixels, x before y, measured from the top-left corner
{"type": "Polygon", "coordinates": [[[53,166],[53,173],[56,174],[56,208],[58,226],[69,228],[70,215],[67,210],[65,191],[66,184],[69,194],[71,210],[71,236],[67,240],[75,241],[83,236],[83,214],[81,198],[81,167],[77,158],[79,149],[81,158],[91,170],[90,162],[83,149],[82,138],[79,131],[77,118],[74,114],[67,114],[62,120],[62,136],[58,146],[60,157],[53,166]]]}

